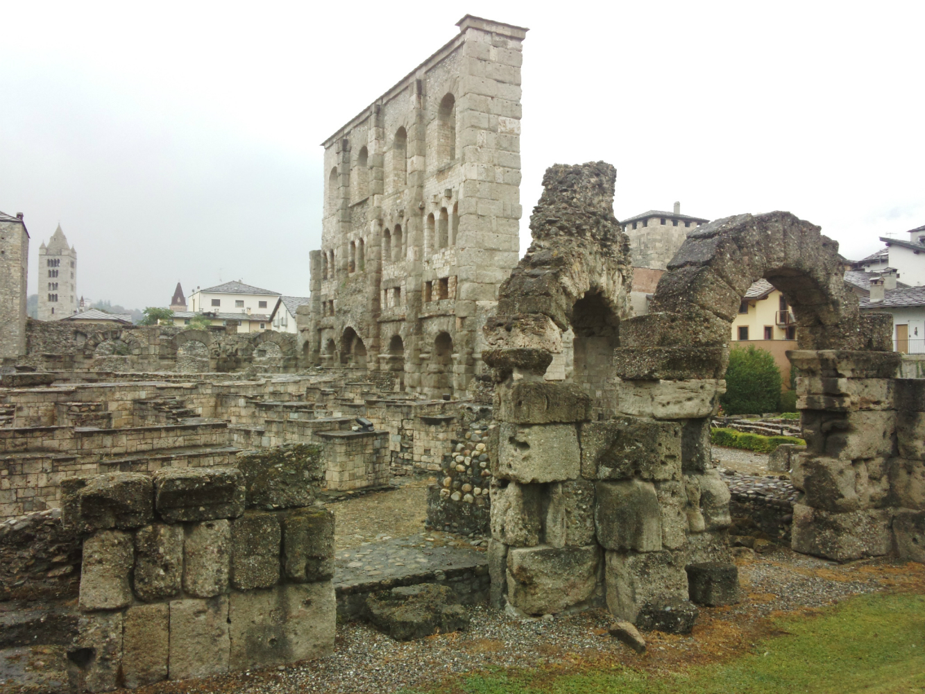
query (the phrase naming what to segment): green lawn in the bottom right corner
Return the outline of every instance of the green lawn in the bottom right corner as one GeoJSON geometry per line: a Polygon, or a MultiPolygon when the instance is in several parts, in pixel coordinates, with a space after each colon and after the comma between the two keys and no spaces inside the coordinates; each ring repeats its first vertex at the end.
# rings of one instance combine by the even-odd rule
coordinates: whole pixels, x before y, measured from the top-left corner
{"type": "MultiPolygon", "coordinates": [[[[550,676],[524,671],[463,676],[466,694],[914,694],[925,693],[925,596],[886,594],[843,601],[819,616],[777,620],[778,632],[752,653],[685,675],[630,668],[550,676]]],[[[409,693],[410,694],[410,693],[409,693]]]]}

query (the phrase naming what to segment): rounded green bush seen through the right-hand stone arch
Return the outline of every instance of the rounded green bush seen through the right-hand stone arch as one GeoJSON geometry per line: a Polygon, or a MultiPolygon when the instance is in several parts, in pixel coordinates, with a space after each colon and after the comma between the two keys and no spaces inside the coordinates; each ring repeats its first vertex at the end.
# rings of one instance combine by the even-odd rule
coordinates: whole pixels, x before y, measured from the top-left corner
{"type": "Polygon", "coordinates": [[[720,398],[727,415],[761,415],[774,412],[781,398],[781,369],[770,352],[735,347],[729,353],[726,392],[720,398]]]}

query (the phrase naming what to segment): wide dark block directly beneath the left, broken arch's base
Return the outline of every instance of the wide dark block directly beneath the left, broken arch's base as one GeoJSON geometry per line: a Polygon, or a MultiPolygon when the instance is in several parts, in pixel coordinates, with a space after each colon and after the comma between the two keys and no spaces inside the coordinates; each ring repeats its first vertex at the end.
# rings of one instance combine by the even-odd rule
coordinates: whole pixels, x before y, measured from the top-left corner
{"type": "Polygon", "coordinates": [[[498,390],[496,416],[502,422],[582,422],[590,416],[590,396],[573,383],[517,381],[498,390]]]}

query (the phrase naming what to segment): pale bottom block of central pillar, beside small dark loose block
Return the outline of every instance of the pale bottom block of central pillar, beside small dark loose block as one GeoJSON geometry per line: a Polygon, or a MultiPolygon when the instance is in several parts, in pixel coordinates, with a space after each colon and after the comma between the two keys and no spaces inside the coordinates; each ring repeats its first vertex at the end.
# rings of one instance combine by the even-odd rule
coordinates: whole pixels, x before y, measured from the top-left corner
{"type": "Polygon", "coordinates": [[[635,623],[646,604],[687,599],[685,554],[679,551],[607,552],[607,606],[635,623]]]}

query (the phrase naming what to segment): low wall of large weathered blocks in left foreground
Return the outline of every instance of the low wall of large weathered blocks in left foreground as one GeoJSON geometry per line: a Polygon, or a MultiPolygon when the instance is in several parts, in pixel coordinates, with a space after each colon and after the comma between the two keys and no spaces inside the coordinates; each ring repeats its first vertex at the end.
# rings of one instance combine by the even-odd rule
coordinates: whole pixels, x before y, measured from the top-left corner
{"type": "Polygon", "coordinates": [[[333,651],[334,518],[304,505],[308,486],[290,484],[302,471],[279,460],[68,480],[64,525],[83,538],[68,652],[81,691],[333,651]]]}

